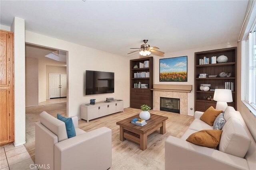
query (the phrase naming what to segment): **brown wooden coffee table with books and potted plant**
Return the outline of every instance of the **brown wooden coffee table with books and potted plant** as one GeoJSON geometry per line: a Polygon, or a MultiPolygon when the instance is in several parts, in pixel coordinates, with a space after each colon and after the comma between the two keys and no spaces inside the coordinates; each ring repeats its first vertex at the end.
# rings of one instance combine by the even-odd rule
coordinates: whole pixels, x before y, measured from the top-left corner
{"type": "Polygon", "coordinates": [[[128,139],[140,145],[141,150],[147,149],[148,135],[160,128],[160,134],[165,133],[165,121],[168,117],[150,114],[150,119],[144,126],[138,126],[131,123],[132,119],[140,118],[139,115],[134,115],[127,119],[116,122],[120,126],[120,141],[128,139]]]}

